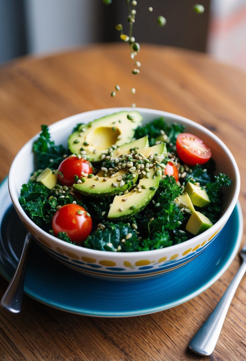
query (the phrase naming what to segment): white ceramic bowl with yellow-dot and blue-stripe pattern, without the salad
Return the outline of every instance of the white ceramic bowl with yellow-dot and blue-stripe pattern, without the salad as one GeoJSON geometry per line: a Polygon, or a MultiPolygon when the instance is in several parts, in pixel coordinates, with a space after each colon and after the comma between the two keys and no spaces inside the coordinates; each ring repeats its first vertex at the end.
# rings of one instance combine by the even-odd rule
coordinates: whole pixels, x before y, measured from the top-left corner
{"type": "MultiPolygon", "coordinates": [[[[50,255],[65,265],[95,277],[117,280],[145,279],[175,270],[197,257],[216,238],[232,213],[240,191],[240,174],[236,162],[225,144],[211,131],[184,117],[160,110],[135,108],[144,120],[143,124],[154,118],[164,117],[168,123],[178,122],[185,125],[185,132],[197,135],[212,151],[216,162],[216,174],[225,173],[232,179],[224,196],[224,211],[210,229],[186,242],[171,247],[142,252],[104,252],[69,244],[55,238],[39,228],[26,215],[18,197],[22,184],[27,183],[34,170],[32,144],[38,137],[29,140],[14,158],[9,171],[9,192],[19,218],[32,234],[36,242],[50,255]],[[18,175],[18,176],[17,176],[18,175]]],[[[78,123],[88,123],[94,119],[132,108],[109,108],[92,110],[62,119],[49,126],[51,138],[56,144],[66,145],[67,138],[78,123]]]]}

